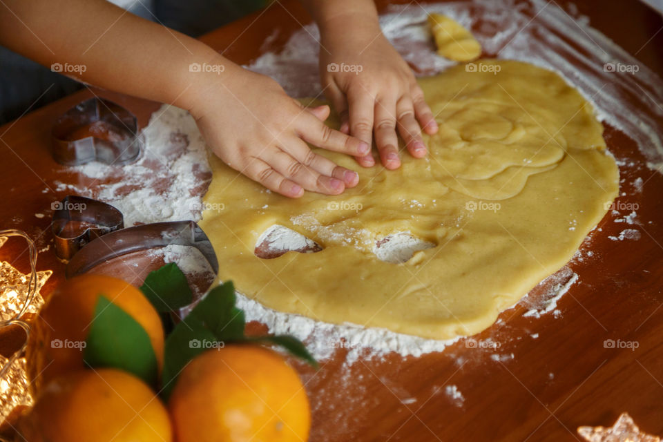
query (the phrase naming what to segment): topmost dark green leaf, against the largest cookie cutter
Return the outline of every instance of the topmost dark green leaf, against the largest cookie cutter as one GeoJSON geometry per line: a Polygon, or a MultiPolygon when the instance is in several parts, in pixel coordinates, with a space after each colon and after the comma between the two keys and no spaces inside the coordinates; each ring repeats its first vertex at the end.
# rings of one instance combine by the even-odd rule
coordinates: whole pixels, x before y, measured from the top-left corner
{"type": "Polygon", "coordinates": [[[193,300],[189,282],[175,262],[151,271],[140,289],[157,311],[174,311],[193,300]]]}

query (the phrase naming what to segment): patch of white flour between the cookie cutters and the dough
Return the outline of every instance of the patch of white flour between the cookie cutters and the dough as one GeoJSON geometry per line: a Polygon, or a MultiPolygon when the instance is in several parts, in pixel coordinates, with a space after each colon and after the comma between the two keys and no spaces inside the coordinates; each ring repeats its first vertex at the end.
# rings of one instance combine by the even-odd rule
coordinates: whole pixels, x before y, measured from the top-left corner
{"type": "Polygon", "coordinates": [[[122,211],[125,227],[200,220],[202,190],[211,171],[193,117],[164,105],[152,115],[141,136],[144,148],[137,162],[124,166],[90,162],[72,167],[90,180],[79,186],[56,182],[57,191],[112,204],[122,211]]]}

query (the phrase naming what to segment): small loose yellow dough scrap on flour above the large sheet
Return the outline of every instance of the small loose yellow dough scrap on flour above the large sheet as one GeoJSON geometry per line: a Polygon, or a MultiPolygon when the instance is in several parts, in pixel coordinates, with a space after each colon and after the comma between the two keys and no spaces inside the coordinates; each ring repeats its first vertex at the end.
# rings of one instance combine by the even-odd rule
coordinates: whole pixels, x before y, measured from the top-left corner
{"type": "Polygon", "coordinates": [[[472,61],[481,55],[479,41],[460,23],[441,14],[428,15],[437,53],[454,61],[472,61]]]}

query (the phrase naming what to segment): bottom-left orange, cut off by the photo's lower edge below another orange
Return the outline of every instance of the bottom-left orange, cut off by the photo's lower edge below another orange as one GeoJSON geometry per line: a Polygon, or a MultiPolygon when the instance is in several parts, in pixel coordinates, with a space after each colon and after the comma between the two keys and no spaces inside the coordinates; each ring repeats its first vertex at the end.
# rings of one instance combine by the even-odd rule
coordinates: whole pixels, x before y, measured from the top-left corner
{"type": "Polygon", "coordinates": [[[19,421],[26,442],[170,442],[166,407],[139,378],[112,368],[78,370],[44,386],[19,421]]]}

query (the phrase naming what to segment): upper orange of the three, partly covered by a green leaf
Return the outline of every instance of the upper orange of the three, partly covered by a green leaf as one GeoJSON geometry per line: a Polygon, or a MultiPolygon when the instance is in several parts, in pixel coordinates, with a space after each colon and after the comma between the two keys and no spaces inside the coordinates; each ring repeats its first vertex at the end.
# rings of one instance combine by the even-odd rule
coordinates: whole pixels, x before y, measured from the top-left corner
{"type": "Polygon", "coordinates": [[[85,274],[58,285],[32,324],[26,359],[33,392],[38,394],[43,385],[57,376],[85,367],[84,343],[102,295],[142,325],[161,370],[164,329],[159,314],[142,291],[111,276],[85,274]]]}

